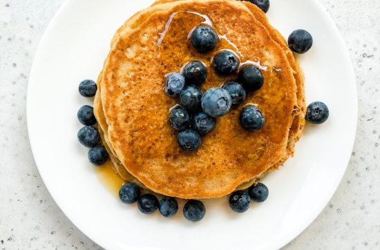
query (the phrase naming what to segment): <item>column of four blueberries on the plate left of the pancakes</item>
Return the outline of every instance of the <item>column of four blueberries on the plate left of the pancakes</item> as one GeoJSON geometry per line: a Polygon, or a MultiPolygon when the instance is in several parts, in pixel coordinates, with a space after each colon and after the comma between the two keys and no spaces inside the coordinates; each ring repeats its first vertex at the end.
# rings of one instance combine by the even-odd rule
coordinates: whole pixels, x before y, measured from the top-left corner
{"type": "MultiPolygon", "coordinates": [[[[94,97],[97,91],[95,81],[84,80],[79,84],[79,94],[84,97],[94,97]]],[[[84,125],[78,132],[79,142],[88,148],[88,160],[95,166],[101,166],[106,163],[108,153],[104,146],[97,146],[100,142],[99,131],[93,125],[96,124],[94,109],[91,106],[84,105],[79,108],[77,117],[79,122],[84,125]]]]}

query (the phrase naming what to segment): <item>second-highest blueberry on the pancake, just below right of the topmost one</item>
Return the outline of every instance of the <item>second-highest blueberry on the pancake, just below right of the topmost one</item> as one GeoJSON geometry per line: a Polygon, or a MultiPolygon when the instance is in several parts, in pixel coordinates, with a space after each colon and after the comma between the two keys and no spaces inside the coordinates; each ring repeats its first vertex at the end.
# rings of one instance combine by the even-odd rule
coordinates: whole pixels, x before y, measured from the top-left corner
{"type": "Polygon", "coordinates": [[[240,64],[238,57],[234,52],[222,50],[213,57],[213,68],[220,75],[230,75],[234,73],[240,64]]]}

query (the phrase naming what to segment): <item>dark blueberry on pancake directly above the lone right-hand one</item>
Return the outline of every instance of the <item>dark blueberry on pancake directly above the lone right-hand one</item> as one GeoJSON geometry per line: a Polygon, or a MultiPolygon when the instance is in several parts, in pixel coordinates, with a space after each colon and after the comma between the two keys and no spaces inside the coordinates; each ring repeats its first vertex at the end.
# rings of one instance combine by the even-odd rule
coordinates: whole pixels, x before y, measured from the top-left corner
{"type": "Polygon", "coordinates": [[[259,90],[264,83],[263,73],[254,65],[247,65],[240,69],[238,81],[245,90],[259,90]]]}

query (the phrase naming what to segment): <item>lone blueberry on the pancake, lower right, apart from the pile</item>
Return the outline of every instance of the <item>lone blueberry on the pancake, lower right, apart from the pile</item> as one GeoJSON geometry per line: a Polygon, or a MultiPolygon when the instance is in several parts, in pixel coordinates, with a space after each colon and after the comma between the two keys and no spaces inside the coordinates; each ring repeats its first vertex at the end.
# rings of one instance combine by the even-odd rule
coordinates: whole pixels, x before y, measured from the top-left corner
{"type": "Polygon", "coordinates": [[[258,131],[265,124],[265,117],[256,106],[247,106],[240,113],[240,123],[249,131],[258,131]]]}

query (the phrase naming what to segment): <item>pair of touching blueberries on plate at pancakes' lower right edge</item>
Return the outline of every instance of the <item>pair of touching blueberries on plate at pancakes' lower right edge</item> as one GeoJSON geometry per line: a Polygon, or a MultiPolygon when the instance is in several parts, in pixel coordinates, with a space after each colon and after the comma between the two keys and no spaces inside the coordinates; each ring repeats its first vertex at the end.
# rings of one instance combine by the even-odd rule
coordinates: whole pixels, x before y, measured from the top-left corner
{"type": "Polygon", "coordinates": [[[229,196],[229,206],[236,213],[244,213],[249,209],[251,201],[264,202],[267,200],[269,191],[263,183],[252,185],[248,191],[235,191],[229,196]]]}

